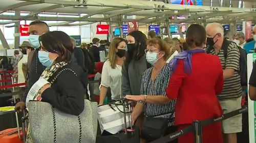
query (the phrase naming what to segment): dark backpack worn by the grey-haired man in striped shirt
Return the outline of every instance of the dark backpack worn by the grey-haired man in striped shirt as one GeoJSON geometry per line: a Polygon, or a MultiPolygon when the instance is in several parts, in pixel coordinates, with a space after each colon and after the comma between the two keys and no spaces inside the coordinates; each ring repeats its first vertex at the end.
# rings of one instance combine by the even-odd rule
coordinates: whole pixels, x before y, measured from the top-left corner
{"type": "MultiPolygon", "coordinates": [[[[224,40],[223,42],[223,52],[224,52],[224,58],[227,58],[227,48],[230,43],[234,43],[232,41],[224,40]]],[[[236,43],[234,43],[236,44],[236,43]]],[[[237,45],[237,44],[236,44],[237,45]]],[[[239,60],[239,75],[241,78],[241,85],[247,86],[247,52],[245,49],[238,46],[239,52],[240,52],[240,60],[239,60]]]]}

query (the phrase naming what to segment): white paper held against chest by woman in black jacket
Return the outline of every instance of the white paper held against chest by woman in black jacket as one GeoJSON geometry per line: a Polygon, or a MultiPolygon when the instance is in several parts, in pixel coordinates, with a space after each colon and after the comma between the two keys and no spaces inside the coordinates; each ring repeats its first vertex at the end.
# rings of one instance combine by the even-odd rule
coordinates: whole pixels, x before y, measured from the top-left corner
{"type": "MultiPolygon", "coordinates": [[[[45,85],[45,84],[50,84],[45,78],[39,78],[31,87],[29,90],[27,99],[26,99],[26,105],[28,105],[30,100],[34,100],[34,97],[38,93],[38,91],[45,85]]],[[[35,99],[37,100],[37,99],[35,99]]]]}

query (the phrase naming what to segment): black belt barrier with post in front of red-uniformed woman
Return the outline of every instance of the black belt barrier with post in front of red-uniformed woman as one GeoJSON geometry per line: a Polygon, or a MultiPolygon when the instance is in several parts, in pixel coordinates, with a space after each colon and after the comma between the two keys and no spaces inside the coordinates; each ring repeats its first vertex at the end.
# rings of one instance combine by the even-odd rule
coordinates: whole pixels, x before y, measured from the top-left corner
{"type": "Polygon", "coordinates": [[[226,120],[228,118],[237,116],[240,113],[244,113],[244,112],[247,112],[247,111],[248,111],[248,107],[244,106],[241,109],[234,110],[234,111],[231,111],[229,113],[226,113],[226,114],[222,115],[219,118],[212,118],[212,119],[208,119],[208,120],[205,120],[205,121],[194,121],[193,125],[190,125],[190,126],[184,128],[184,129],[180,130],[180,131],[177,131],[175,133],[169,134],[169,135],[164,136],[162,138],[159,138],[157,140],[154,140],[151,143],[159,143],[159,142],[166,143],[166,142],[175,140],[178,137],[180,137],[180,136],[182,136],[184,134],[187,134],[187,133],[189,133],[191,131],[194,132],[195,143],[202,143],[202,127],[203,126],[208,126],[208,125],[216,123],[216,122],[221,122],[223,120],[226,120]]]}

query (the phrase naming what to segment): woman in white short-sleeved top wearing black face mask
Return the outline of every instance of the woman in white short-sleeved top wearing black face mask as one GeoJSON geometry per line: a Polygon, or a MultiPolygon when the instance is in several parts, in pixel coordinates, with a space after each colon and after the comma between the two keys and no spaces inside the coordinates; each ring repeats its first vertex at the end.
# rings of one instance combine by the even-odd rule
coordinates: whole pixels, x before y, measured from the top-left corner
{"type": "Polygon", "coordinates": [[[100,83],[99,105],[102,105],[108,92],[111,89],[111,98],[120,99],[121,81],[122,81],[122,65],[125,59],[125,40],[122,38],[114,38],[111,42],[108,60],[103,65],[100,83]]]}

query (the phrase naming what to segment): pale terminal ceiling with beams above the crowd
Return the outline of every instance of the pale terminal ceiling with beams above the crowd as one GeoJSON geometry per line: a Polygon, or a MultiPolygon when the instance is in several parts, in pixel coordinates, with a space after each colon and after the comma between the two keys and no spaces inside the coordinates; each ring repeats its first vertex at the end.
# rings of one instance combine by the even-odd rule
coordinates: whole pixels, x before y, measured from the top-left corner
{"type": "Polygon", "coordinates": [[[4,19],[0,24],[12,24],[20,20],[45,20],[59,21],[50,25],[63,26],[95,22],[122,25],[123,22],[137,20],[139,25],[144,25],[166,22],[240,23],[244,20],[254,21],[256,9],[214,5],[184,6],[138,0],[1,0],[0,13],[0,19],[4,19]]]}

